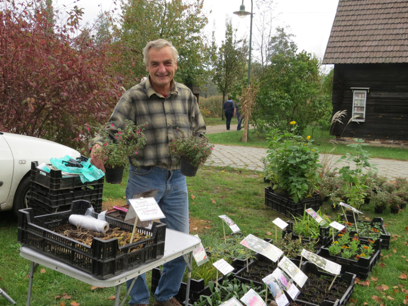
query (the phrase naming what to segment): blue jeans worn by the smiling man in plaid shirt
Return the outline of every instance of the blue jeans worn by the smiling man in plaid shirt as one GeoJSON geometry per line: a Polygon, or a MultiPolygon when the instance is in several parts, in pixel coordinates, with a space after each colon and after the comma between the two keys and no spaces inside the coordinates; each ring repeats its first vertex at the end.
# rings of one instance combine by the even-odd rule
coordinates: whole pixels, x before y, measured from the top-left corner
{"type": "MultiPolygon", "coordinates": [[[[133,198],[136,193],[152,189],[158,189],[156,201],[166,216],[160,221],[166,223],[167,228],[171,230],[188,234],[186,176],[181,173],[180,169],[169,171],[159,167],[136,168],[131,165],[126,186],[126,198],[133,198]]],[[[183,257],[163,264],[162,276],[155,292],[157,301],[166,302],[179,292],[185,270],[186,262],[183,257]]],[[[133,279],[126,282],[128,290],[132,281],[133,279]]],[[[137,277],[130,296],[129,304],[149,304],[150,293],[144,274],[137,277]]]]}

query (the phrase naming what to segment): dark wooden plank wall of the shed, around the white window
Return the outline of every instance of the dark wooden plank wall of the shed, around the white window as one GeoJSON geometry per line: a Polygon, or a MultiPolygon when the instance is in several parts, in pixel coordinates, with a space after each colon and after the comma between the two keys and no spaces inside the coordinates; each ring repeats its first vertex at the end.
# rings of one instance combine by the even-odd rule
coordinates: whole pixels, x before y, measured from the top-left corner
{"type": "Polygon", "coordinates": [[[336,64],[333,114],[346,110],[344,124],[331,135],[408,141],[408,64],[336,64]],[[351,117],[351,87],[369,87],[366,121],[346,123],[351,117]]]}

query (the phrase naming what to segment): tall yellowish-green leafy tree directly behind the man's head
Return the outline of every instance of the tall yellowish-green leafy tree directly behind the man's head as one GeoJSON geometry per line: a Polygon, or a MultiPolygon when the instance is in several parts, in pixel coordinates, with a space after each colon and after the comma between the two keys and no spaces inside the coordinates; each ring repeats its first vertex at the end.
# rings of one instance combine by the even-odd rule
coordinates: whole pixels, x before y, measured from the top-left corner
{"type": "Polygon", "coordinates": [[[124,48],[118,65],[125,79],[147,74],[143,47],[163,38],[179,52],[175,80],[186,85],[203,83],[209,56],[201,33],[208,22],[202,4],[203,0],[121,0],[122,19],[116,35],[124,48]]]}

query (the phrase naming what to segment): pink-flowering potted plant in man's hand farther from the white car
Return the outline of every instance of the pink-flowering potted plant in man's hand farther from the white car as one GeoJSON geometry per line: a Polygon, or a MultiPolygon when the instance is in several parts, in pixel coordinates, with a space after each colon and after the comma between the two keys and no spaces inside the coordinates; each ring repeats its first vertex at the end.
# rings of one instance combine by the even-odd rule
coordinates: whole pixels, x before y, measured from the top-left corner
{"type": "Polygon", "coordinates": [[[181,160],[183,175],[195,176],[197,169],[206,162],[213,152],[214,145],[208,142],[207,137],[192,136],[170,140],[169,154],[181,160]]]}

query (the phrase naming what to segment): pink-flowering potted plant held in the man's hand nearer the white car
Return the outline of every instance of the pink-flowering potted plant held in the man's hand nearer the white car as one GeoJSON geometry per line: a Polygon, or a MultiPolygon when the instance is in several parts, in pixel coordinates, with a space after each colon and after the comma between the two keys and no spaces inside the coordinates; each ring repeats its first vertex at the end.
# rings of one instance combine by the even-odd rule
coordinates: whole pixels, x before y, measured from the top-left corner
{"type": "MultiPolygon", "coordinates": [[[[103,140],[101,141],[100,148],[94,151],[94,154],[104,162],[106,169],[105,180],[107,183],[120,184],[122,182],[123,169],[128,161],[128,157],[135,157],[138,154],[138,150],[143,148],[146,143],[144,135],[146,124],[136,125],[131,120],[124,120],[123,130],[118,129],[113,134],[113,139],[110,137],[111,131],[109,125],[105,128],[96,128],[98,136],[103,140]]],[[[91,145],[93,144],[91,143],[91,145]]],[[[133,160],[136,161],[136,159],[133,160]]]]}

